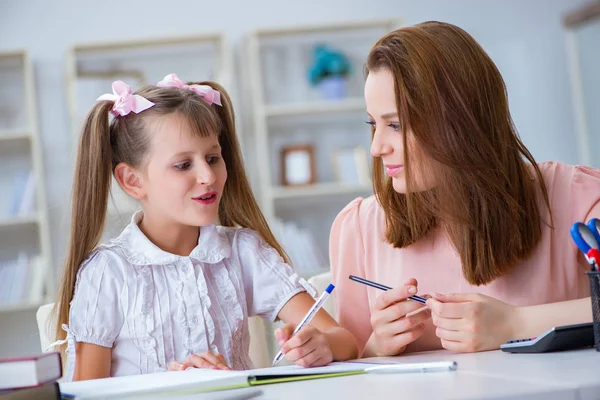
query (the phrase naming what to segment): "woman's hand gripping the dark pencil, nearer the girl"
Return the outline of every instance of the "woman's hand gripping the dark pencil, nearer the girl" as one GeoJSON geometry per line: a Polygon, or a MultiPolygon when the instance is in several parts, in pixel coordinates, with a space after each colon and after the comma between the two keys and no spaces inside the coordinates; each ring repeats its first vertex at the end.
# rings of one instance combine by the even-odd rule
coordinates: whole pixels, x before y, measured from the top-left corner
{"type": "Polygon", "coordinates": [[[416,293],[417,281],[411,278],[404,286],[388,290],[377,298],[371,309],[373,334],[364,356],[398,355],[423,335],[424,323],[431,317],[431,312],[408,299],[416,293]],[[422,311],[414,312],[419,309],[422,311]]]}

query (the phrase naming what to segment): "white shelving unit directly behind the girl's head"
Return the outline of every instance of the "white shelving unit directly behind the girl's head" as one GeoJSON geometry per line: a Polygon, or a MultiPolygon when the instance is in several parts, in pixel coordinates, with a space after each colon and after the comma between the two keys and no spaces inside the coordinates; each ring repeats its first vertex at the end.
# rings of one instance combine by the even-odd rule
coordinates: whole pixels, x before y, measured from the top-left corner
{"type": "MultiPolygon", "coordinates": [[[[111,84],[122,80],[135,91],[175,72],[182,81],[213,80],[221,84],[236,105],[233,55],[222,34],[147,39],[115,43],[79,44],[67,62],[69,114],[77,148],[85,116],[111,84]]],[[[103,240],[117,236],[129,223],[138,204],[113,179],[103,240]]]]}

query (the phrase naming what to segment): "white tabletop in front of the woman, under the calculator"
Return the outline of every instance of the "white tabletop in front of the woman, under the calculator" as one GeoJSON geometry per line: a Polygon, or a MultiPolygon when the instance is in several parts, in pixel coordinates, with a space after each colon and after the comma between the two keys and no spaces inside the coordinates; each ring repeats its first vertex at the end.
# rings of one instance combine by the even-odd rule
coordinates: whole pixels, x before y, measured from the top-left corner
{"type": "Polygon", "coordinates": [[[454,360],[458,370],[266,385],[257,399],[600,399],[600,352],[593,349],[547,354],[435,351],[362,361],[433,360],[454,360]]]}

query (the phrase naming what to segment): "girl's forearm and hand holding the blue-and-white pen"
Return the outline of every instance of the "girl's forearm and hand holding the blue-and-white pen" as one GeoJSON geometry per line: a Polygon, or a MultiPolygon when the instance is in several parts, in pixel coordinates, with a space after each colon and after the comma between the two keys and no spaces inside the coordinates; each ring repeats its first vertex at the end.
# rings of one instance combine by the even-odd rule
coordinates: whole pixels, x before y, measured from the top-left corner
{"type": "Polygon", "coordinates": [[[356,338],[321,309],[294,337],[292,332],[314,304],[314,299],[305,292],[292,297],[278,314],[286,325],[275,331],[286,359],[309,367],[326,365],[331,361],[343,361],[358,357],[356,338]],[[289,339],[289,340],[288,340],[289,339]],[[286,342],[287,341],[287,342],[286,342]]]}

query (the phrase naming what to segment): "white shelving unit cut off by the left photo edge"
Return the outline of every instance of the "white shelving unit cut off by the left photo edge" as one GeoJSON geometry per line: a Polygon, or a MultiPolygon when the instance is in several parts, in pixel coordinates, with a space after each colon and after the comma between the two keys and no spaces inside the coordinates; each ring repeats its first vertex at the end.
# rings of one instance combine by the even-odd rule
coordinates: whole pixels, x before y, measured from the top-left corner
{"type": "Polygon", "coordinates": [[[0,324],[55,291],[34,87],[28,54],[0,53],[0,324]]]}

